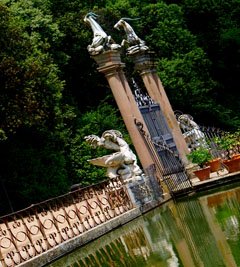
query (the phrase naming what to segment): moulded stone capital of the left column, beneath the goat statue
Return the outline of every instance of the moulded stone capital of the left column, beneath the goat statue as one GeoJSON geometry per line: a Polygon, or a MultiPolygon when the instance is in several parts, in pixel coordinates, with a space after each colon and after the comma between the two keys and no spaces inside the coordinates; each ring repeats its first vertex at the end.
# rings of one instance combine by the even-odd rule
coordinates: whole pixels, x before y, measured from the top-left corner
{"type": "Polygon", "coordinates": [[[125,67],[125,64],[121,61],[119,51],[109,50],[99,55],[92,56],[92,58],[98,64],[97,70],[105,76],[114,75],[125,67]]]}

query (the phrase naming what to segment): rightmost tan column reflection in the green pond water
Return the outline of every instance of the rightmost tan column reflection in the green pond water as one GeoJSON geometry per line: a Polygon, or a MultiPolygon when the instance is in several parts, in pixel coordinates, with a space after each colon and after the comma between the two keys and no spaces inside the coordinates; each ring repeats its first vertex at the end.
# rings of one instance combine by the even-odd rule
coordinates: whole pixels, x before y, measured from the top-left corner
{"type": "Polygon", "coordinates": [[[216,223],[215,215],[211,212],[211,209],[208,207],[207,197],[199,198],[199,201],[201,203],[202,210],[205,214],[206,221],[208,222],[211,232],[215,237],[218,249],[221,252],[221,255],[223,257],[223,260],[226,266],[237,267],[237,264],[233,258],[231,249],[226,240],[226,236],[223,233],[219,224],[216,223]]]}

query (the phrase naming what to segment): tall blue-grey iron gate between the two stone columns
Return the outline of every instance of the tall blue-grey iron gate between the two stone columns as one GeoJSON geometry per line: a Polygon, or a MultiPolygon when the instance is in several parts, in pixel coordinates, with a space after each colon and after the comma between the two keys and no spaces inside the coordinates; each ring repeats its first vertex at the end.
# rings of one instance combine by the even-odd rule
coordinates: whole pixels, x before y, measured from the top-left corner
{"type": "Polygon", "coordinates": [[[143,131],[140,122],[136,121],[136,125],[154,158],[162,181],[167,185],[173,197],[192,191],[192,183],[178,156],[176,144],[160,106],[154,103],[148,94],[143,94],[134,81],[133,85],[135,87],[135,99],[150,136],[143,131]]]}

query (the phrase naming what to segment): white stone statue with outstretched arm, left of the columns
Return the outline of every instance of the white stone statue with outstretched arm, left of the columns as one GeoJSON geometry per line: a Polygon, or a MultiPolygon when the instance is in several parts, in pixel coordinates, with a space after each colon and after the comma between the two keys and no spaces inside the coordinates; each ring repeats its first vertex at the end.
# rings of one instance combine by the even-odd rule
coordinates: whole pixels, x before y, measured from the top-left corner
{"type": "Polygon", "coordinates": [[[136,155],[123,140],[122,134],[116,130],[108,130],[102,137],[96,135],[85,136],[85,140],[93,147],[104,147],[117,151],[111,155],[89,160],[90,163],[107,168],[107,176],[115,178],[121,176],[123,179],[138,179],[142,170],[137,165],[136,155]]]}

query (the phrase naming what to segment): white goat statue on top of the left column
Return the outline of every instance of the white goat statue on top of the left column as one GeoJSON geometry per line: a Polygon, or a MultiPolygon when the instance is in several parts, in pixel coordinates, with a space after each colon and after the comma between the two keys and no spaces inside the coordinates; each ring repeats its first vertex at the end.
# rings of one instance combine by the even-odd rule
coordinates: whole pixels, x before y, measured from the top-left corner
{"type": "Polygon", "coordinates": [[[88,45],[88,52],[91,55],[97,55],[105,50],[116,50],[120,45],[113,44],[111,36],[107,35],[102,27],[96,22],[98,16],[93,12],[88,13],[84,17],[84,21],[90,24],[93,31],[92,44],[88,45]]]}

